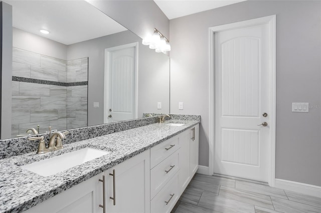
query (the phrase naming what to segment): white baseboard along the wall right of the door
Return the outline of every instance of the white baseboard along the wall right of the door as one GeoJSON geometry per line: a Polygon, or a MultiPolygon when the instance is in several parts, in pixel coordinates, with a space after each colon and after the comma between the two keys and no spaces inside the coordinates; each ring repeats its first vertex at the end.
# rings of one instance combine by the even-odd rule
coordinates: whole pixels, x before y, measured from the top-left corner
{"type": "Polygon", "coordinates": [[[275,178],[274,187],[295,191],[295,192],[307,194],[310,196],[321,197],[321,186],[317,186],[317,185],[310,185],[306,183],[275,178]]]}

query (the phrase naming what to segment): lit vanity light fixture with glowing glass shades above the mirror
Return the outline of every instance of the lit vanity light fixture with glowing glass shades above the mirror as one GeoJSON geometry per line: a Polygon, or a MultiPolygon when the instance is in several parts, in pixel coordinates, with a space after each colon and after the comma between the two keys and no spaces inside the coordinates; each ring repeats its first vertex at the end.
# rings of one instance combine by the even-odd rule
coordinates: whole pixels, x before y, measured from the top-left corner
{"type": "Polygon", "coordinates": [[[171,44],[161,32],[154,28],[152,35],[146,36],[142,39],[142,44],[149,45],[149,48],[155,49],[156,52],[171,51],[171,44]]]}

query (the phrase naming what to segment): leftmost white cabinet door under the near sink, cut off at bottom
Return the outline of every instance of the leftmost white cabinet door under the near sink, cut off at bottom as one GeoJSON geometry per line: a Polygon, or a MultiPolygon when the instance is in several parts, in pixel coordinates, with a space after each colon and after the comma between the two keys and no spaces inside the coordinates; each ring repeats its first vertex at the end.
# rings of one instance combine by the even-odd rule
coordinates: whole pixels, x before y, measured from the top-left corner
{"type": "Polygon", "coordinates": [[[102,183],[104,173],[85,180],[39,204],[26,212],[99,212],[102,213],[102,183]]]}

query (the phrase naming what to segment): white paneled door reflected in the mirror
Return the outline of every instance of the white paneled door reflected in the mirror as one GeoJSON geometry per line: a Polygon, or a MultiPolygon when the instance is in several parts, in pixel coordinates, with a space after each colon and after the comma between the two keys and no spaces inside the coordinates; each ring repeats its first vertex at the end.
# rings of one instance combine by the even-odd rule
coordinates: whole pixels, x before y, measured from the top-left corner
{"type": "Polygon", "coordinates": [[[106,49],[104,122],[136,117],[136,45],[106,49]]]}

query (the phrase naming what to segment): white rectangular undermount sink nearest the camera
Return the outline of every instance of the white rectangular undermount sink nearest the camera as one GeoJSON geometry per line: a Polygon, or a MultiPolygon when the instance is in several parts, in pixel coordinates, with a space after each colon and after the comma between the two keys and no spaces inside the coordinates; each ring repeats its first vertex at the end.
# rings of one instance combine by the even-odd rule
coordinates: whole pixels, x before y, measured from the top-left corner
{"type": "Polygon", "coordinates": [[[110,151],[86,147],[48,159],[43,159],[38,162],[26,164],[22,167],[42,176],[50,176],[108,153],[110,153],[110,151]]]}

